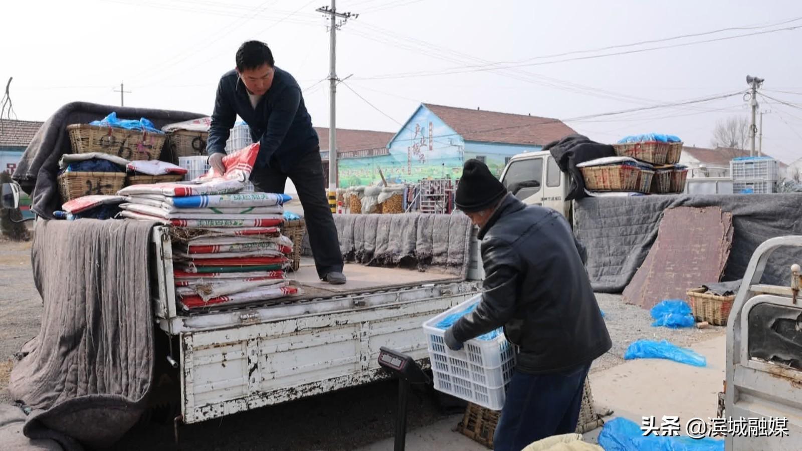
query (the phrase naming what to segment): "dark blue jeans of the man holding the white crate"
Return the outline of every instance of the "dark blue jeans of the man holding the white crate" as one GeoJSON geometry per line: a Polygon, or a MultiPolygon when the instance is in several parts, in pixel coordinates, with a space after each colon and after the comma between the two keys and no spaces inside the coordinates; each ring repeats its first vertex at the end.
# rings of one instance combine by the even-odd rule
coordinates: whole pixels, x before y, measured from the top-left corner
{"type": "Polygon", "coordinates": [[[516,370],[493,436],[495,451],[520,451],[545,437],[573,433],[590,364],[563,372],[526,374],[516,370]]]}

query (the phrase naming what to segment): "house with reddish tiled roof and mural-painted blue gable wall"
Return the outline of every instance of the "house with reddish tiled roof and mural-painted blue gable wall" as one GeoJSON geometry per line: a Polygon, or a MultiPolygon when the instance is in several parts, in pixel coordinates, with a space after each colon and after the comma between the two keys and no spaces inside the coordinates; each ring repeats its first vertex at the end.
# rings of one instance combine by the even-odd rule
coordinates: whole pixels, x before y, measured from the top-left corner
{"type": "Polygon", "coordinates": [[[537,152],[572,133],[557,119],[420,104],[388,141],[386,154],[338,161],[339,186],[373,185],[379,169],[389,183],[457,179],[471,158],[500,177],[512,156],[537,152]]]}

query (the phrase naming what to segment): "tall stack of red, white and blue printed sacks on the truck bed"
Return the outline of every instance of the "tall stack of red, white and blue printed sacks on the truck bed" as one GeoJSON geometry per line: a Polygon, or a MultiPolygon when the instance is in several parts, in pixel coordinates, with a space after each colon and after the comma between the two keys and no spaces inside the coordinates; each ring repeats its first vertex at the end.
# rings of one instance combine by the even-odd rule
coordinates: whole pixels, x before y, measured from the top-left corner
{"type": "Polygon", "coordinates": [[[226,156],[223,175],[212,169],[188,183],[133,185],[119,192],[126,196],[121,216],[172,225],[176,299],[184,310],[298,293],[284,274],[293,243],[279,229],[290,197],[239,193],[255,152],[258,144],[226,156]]]}

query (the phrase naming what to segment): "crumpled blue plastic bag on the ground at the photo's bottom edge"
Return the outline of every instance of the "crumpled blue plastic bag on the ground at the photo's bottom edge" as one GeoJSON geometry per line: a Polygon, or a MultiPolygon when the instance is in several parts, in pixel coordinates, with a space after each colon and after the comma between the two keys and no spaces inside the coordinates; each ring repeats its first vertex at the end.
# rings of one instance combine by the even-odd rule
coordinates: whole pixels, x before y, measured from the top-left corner
{"type": "Polygon", "coordinates": [[[723,451],[724,441],[710,437],[643,436],[640,425],[626,418],[614,418],[605,423],[598,438],[605,451],[723,451]]]}

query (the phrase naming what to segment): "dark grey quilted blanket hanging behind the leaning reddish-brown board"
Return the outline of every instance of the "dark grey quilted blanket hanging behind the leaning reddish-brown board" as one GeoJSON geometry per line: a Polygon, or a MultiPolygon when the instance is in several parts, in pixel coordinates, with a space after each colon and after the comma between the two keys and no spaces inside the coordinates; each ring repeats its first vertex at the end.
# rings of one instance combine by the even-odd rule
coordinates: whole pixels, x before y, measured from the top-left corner
{"type": "MultiPolygon", "coordinates": [[[[735,233],[723,281],[743,278],[751,255],[768,238],[802,234],[802,193],[587,197],[574,203],[574,234],[587,248],[593,290],[623,291],[649,254],[663,212],[680,206],[732,213],[735,233]]],[[[787,284],[789,268],[800,260],[802,250],[775,252],[763,282],[787,284]]]]}

